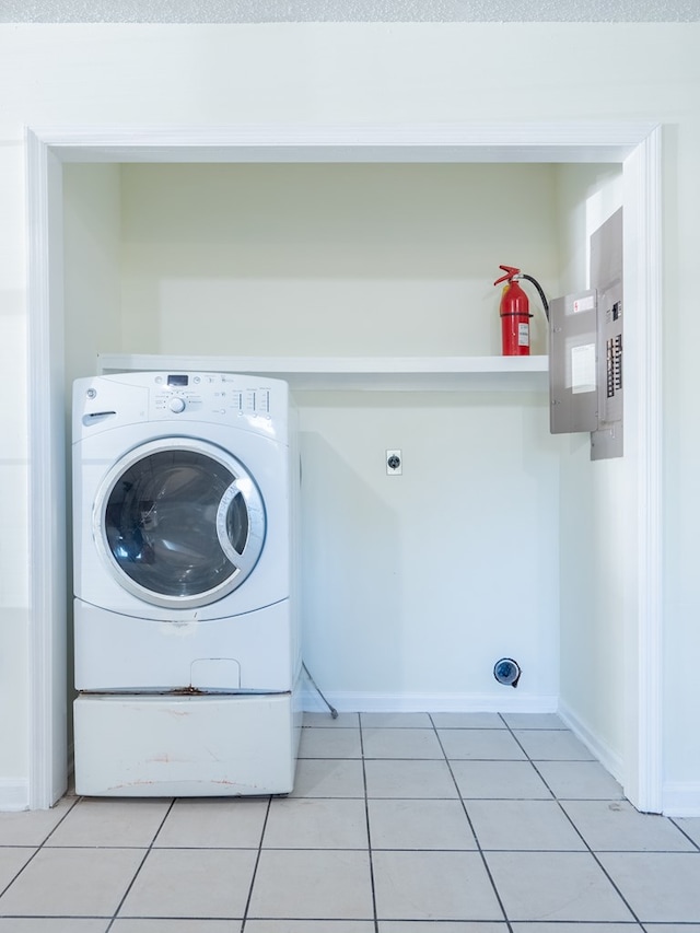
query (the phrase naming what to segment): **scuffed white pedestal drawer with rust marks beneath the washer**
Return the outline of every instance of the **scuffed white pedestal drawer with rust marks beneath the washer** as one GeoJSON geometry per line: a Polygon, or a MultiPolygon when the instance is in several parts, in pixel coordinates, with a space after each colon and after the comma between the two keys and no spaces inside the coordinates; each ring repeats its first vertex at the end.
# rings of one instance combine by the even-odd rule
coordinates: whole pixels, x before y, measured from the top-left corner
{"type": "Polygon", "coordinates": [[[89,796],[288,794],[301,714],[292,693],[80,696],[75,791],[89,796]]]}

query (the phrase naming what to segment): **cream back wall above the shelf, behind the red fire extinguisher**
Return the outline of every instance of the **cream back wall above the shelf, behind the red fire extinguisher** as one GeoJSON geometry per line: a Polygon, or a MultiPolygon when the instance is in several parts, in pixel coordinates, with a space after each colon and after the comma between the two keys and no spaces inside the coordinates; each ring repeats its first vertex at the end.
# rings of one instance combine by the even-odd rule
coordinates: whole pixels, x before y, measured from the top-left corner
{"type": "Polygon", "coordinates": [[[549,165],[121,172],[127,352],[498,353],[499,264],[557,287],[549,165]]]}

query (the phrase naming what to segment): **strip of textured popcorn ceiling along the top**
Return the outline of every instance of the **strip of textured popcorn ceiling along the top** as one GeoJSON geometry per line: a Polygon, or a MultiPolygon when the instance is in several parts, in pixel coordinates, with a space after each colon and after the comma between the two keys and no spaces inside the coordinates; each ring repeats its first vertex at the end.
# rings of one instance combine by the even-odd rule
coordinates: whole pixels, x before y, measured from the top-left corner
{"type": "Polygon", "coordinates": [[[700,21],[700,0],[0,0],[1,23],[700,21]]]}

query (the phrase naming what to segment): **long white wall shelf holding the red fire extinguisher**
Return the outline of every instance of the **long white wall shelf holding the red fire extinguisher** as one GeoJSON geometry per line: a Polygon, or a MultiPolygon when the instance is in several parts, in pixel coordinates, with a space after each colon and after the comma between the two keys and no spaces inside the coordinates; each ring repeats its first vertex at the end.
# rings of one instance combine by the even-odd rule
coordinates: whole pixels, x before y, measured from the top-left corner
{"type": "Polygon", "coordinates": [[[101,353],[97,372],[255,373],[296,390],[545,392],[547,357],[190,357],[101,353]]]}

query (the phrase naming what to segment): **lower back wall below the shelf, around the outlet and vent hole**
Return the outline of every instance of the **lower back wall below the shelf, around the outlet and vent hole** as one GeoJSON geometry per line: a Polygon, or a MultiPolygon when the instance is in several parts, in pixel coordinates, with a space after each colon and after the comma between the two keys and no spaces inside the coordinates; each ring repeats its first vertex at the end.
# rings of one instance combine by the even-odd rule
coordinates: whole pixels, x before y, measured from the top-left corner
{"type": "Polygon", "coordinates": [[[556,709],[558,444],[539,394],[308,394],[305,654],[345,708],[556,709]],[[384,451],[402,451],[387,477],[384,451]],[[517,690],[497,684],[518,661],[517,690]]]}

